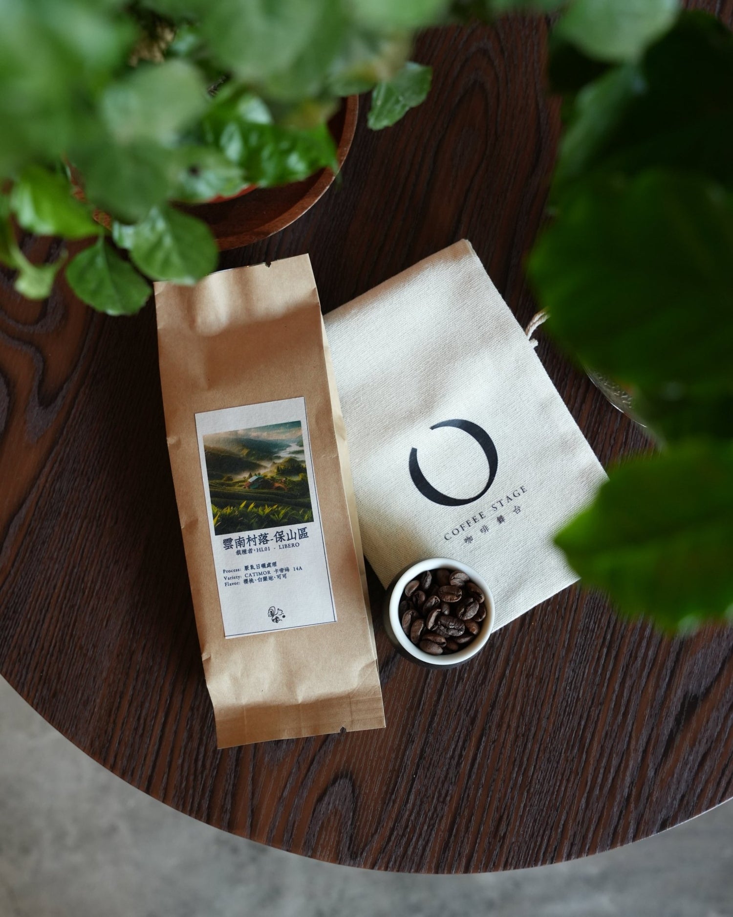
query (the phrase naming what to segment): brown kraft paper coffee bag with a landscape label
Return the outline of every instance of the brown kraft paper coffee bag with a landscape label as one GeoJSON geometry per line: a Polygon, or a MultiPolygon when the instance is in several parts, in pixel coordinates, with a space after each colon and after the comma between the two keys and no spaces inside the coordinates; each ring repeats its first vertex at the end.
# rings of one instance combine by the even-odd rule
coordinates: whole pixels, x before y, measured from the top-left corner
{"type": "Polygon", "coordinates": [[[156,283],[160,381],[219,747],[384,726],[307,255],[156,283]]]}

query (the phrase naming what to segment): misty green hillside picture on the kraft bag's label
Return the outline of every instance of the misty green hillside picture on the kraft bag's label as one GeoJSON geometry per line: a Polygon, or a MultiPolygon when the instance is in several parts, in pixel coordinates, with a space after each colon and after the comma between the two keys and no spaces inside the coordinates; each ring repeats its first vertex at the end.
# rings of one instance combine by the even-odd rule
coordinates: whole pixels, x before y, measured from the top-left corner
{"type": "Polygon", "coordinates": [[[203,436],[214,535],[313,521],[300,421],[203,436]]]}

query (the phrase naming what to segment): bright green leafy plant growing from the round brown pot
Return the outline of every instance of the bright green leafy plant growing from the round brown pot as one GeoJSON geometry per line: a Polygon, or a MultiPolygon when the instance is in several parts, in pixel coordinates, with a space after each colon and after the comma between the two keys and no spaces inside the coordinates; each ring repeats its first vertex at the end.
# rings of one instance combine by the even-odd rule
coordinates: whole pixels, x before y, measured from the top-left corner
{"type": "Polygon", "coordinates": [[[378,6],[5,0],[0,261],[18,292],[43,298],[64,270],[84,302],[123,315],[147,278],[213,271],[211,232],[174,204],[336,171],[327,121],[344,96],[373,90],[379,128],[427,94],[429,68],[406,60],[424,17],[378,6]],[[15,226],[94,241],[34,265],[15,226]]]}

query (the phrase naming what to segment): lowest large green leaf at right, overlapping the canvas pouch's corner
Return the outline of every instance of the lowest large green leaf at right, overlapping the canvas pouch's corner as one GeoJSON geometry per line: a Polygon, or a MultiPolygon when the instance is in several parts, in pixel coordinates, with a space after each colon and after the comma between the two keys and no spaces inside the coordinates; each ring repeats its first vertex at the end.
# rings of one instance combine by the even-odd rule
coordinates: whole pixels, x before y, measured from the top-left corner
{"type": "Polygon", "coordinates": [[[690,444],[613,471],[557,536],[586,586],[673,629],[733,614],[733,446],[690,444]]]}

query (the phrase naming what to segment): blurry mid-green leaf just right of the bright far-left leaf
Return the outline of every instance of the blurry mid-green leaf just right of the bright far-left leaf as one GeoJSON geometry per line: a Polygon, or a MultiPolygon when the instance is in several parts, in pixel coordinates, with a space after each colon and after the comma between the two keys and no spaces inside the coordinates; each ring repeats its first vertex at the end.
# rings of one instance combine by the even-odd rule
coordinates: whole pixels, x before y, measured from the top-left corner
{"type": "Polygon", "coordinates": [[[72,161],[82,173],[87,200],[136,221],[166,199],[173,155],[154,143],[107,139],[75,149],[72,161]]]}

